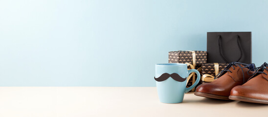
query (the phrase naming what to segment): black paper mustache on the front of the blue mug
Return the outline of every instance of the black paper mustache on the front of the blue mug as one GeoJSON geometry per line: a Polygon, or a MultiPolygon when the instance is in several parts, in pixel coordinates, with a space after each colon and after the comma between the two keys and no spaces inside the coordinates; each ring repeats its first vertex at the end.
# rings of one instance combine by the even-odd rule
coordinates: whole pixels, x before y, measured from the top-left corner
{"type": "Polygon", "coordinates": [[[164,74],[162,74],[160,77],[158,77],[158,78],[156,78],[155,77],[155,80],[156,81],[164,81],[164,80],[166,80],[166,79],[168,79],[168,78],[172,78],[172,79],[174,79],[174,80],[176,80],[176,81],[179,81],[179,82],[183,82],[183,81],[185,81],[186,80],[186,78],[181,78],[177,73],[173,73],[173,74],[168,74],[168,73],[164,73],[164,74]]]}

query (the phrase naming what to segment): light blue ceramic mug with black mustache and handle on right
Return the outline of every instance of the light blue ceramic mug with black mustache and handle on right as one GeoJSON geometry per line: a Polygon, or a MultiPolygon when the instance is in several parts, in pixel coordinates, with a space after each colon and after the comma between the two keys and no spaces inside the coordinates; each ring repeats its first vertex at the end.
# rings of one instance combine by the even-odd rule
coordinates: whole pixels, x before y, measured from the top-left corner
{"type": "Polygon", "coordinates": [[[182,63],[156,64],[155,80],[160,102],[180,103],[184,93],[196,87],[200,81],[200,73],[195,69],[187,70],[187,65],[182,63]],[[186,79],[192,72],[197,74],[197,80],[186,88],[186,79]]]}

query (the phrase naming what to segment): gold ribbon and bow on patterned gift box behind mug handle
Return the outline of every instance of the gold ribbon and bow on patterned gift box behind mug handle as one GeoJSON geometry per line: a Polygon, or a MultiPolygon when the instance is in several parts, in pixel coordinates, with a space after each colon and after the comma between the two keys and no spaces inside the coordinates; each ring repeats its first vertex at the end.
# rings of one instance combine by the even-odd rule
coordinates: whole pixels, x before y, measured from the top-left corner
{"type": "MultiPolygon", "coordinates": [[[[196,68],[196,52],[195,51],[189,51],[189,52],[192,52],[192,54],[193,54],[193,64],[190,64],[188,62],[185,62],[185,64],[187,64],[187,66],[190,66],[190,69],[195,69],[196,68]]],[[[190,69],[187,69],[187,70],[190,70],[190,69]]],[[[200,72],[201,67],[198,68],[197,70],[200,72]]],[[[188,84],[188,81],[190,80],[190,78],[192,78],[192,77],[193,77],[192,83],[194,84],[196,82],[196,74],[193,72],[188,76],[187,84],[188,84]]],[[[195,88],[193,88],[192,91],[195,91],[195,88]]]]}

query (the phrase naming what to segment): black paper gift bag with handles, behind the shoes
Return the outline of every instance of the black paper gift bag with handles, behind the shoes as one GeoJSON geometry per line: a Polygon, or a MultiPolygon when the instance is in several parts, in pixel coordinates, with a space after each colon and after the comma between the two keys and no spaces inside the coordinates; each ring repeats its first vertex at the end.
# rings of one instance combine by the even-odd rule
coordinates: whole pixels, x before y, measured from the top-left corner
{"type": "Polygon", "coordinates": [[[251,63],[251,32],[207,32],[207,63],[251,63]]]}

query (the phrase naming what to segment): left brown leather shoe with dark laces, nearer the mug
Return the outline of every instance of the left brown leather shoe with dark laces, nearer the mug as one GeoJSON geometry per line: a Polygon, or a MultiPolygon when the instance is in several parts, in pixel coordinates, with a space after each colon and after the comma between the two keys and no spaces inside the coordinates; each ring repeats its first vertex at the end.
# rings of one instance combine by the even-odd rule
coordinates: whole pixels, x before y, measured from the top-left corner
{"type": "Polygon", "coordinates": [[[230,100],[230,92],[232,88],[237,85],[244,84],[254,72],[249,69],[253,69],[254,64],[245,64],[239,62],[232,62],[219,73],[213,82],[203,83],[196,88],[195,95],[206,98],[217,98],[230,100]]]}

